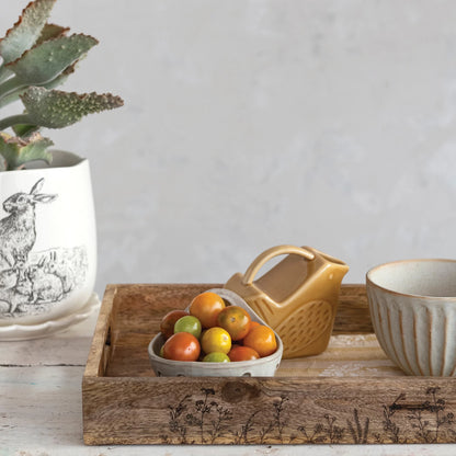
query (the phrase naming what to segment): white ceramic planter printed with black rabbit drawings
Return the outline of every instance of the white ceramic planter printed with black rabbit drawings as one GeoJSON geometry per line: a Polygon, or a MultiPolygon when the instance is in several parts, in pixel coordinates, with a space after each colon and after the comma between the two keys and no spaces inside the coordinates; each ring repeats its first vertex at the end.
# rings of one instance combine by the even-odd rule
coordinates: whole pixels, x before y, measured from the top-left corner
{"type": "Polygon", "coordinates": [[[67,317],[93,293],[89,162],[70,152],[53,156],[52,166],[0,173],[0,330],[67,317]]]}

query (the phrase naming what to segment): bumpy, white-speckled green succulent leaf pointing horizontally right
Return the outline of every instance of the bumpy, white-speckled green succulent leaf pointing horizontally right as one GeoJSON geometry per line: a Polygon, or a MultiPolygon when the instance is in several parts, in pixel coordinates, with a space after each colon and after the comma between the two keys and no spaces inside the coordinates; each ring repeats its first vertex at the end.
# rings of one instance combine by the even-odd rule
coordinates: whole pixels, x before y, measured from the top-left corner
{"type": "Polygon", "coordinates": [[[47,128],[64,128],[80,121],[84,115],[113,110],[124,104],[119,96],[111,93],[98,94],[62,92],[31,87],[21,100],[31,124],[47,128]]]}

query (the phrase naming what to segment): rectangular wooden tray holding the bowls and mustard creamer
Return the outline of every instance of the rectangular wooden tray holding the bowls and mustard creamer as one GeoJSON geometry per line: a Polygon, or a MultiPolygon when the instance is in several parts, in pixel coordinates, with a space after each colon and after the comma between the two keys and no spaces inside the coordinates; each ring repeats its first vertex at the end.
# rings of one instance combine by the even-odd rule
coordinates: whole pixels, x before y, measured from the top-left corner
{"type": "Polygon", "coordinates": [[[456,442],[456,379],[396,368],[362,285],[342,287],[328,350],[273,378],[155,377],[147,345],[161,317],[217,286],[107,286],[82,379],[86,444],[456,442]]]}

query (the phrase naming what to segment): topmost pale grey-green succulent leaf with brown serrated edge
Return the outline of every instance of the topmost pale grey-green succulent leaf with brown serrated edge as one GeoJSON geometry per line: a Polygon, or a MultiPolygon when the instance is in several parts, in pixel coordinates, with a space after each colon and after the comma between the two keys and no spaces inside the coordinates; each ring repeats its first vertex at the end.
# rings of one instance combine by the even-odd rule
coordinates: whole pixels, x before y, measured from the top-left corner
{"type": "Polygon", "coordinates": [[[21,57],[35,44],[55,2],[56,0],[36,0],[25,7],[19,21],[0,41],[0,55],[5,64],[21,57]]]}

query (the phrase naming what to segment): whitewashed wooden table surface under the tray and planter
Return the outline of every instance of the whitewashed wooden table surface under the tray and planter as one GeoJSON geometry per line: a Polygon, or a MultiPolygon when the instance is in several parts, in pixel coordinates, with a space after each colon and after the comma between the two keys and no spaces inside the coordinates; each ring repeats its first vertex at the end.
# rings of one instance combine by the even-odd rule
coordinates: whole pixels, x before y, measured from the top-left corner
{"type": "Polygon", "coordinates": [[[96,316],[46,339],[0,342],[0,456],[456,455],[456,445],[86,446],[81,380],[96,316]]]}

